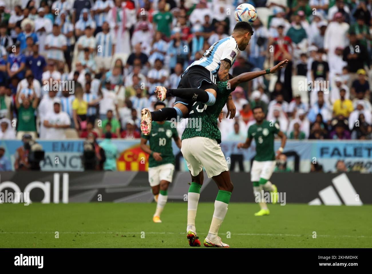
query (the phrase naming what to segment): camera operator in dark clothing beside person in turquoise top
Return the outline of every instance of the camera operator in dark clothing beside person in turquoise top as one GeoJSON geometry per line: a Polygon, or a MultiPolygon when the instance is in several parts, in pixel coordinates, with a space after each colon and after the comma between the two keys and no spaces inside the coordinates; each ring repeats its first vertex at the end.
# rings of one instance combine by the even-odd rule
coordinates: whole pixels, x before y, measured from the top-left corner
{"type": "Polygon", "coordinates": [[[103,163],[106,161],[105,151],[96,141],[93,133],[89,133],[84,141],[84,152],[81,157],[84,170],[103,170],[103,163]]]}

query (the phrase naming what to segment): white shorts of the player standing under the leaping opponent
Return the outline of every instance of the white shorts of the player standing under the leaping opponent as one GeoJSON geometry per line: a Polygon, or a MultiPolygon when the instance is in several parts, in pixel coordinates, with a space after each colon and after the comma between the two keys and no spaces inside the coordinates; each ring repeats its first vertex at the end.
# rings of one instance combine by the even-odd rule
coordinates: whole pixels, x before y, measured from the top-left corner
{"type": "Polygon", "coordinates": [[[203,167],[208,178],[228,171],[224,153],[215,139],[193,137],[182,140],[181,152],[192,176],[197,176],[203,167]]]}

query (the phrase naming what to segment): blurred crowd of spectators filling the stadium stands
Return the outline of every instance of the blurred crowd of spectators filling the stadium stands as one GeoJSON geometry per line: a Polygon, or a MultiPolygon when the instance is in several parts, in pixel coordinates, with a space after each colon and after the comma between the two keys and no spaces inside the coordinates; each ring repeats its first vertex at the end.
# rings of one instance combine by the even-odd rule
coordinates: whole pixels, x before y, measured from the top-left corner
{"type": "MultiPolygon", "coordinates": [[[[241,2],[0,0],[0,139],[140,138],[155,86],[176,88],[241,2]]],[[[255,106],[290,139],[371,139],[372,1],[248,3],[258,19],[231,74],[289,64],[234,90],[222,141],[246,138],[255,106]]]]}

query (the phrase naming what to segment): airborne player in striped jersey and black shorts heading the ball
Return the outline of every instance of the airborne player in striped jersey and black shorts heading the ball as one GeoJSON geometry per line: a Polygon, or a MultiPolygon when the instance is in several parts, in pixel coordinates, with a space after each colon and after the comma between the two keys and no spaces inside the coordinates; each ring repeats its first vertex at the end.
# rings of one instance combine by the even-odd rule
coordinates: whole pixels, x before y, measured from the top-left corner
{"type": "MultiPolygon", "coordinates": [[[[194,61],[181,76],[177,89],[182,89],[182,98],[177,93],[170,94],[176,97],[173,108],[163,108],[150,112],[144,108],[141,111],[141,131],[144,135],[150,134],[152,121],[170,121],[172,118],[186,118],[192,107],[192,101],[199,101],[205,105],[214,105],[217,96],[217,81],[227,81],[228,71],[235,62],[239,50],[245,50],[253,29],[247,22],[238,22],[231,36],[219,40],[205,51],[202,58],[194,61]],[[198,88],[194,92],[193,88],[198,88]],[[186,98],[186,99],[185,99],[186,98]]],[[[161,100],[165,90],[155,90],[161,100]]],[[[162,101],[162,100],[161,100],[162,101]]],[[[227,100],[227,116],[235,116],[235,106],[231,96],[227,100]]]]}

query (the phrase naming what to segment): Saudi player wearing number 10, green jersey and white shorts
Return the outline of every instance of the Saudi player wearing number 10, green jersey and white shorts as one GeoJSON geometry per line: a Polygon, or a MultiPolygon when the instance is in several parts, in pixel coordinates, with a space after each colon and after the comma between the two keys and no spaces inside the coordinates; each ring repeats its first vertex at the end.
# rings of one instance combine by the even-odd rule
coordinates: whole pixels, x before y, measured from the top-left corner
{"type": "MultiPolygon", "coordinates": [[[[154,109],[164,108],[163,102],[157,102],[154,109]]],[[[148,181],[157,202],[156,211],[153,216],[154,223],[161,223],[160,214],[168,200],[168,187],[172,182],[174,172],[174,154],[172,149],[172,138],[177,146],[181,148],[181,140],[177,129],[171,127],[171,122],[153,122],[153,131],[150,135],[141,138],[141,149],[150,154],[148,157],[148,181]],[[150,148],[146,146],[147,140],[150,148]]]]}

